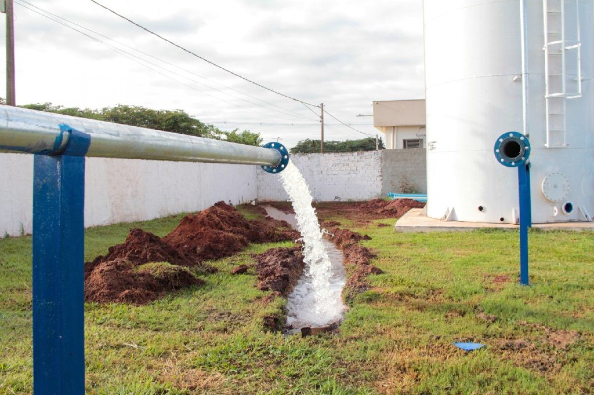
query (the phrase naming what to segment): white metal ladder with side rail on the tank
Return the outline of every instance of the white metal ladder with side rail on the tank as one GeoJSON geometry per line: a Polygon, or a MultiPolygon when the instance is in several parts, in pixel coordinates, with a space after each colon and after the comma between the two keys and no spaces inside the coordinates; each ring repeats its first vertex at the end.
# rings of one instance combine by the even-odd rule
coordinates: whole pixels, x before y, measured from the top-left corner
{"type": "Polygon", "coordinates": [[[567,146],[565,100],[582,97],[579,0],[543,0],[547,148],[567,146]]]}

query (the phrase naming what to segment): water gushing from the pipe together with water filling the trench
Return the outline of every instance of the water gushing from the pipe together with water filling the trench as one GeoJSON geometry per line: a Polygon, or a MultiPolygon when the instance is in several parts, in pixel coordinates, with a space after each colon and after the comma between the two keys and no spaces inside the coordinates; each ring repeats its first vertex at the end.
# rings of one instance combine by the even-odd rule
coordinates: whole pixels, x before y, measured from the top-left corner
{"type": "Polygon", "coordinates": [[[342,252],[322,238],[312,207],[312,196],[301,172],[290,161],[280,173],[295,216],[267,208],[268,215],[285,219],[303,238],[305,272],[287,298],[287,325],[293,328],[320,327],[342,320],[346,306],[342,289],[346,282],[342,252]]]}

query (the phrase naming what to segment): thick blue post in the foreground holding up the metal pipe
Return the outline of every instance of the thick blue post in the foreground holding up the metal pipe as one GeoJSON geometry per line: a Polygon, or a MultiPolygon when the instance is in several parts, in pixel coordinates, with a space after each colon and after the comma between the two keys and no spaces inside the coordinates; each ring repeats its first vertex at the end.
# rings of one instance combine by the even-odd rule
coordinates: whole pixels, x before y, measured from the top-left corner
{"type": "Polygon", "coordinates": [[[38,394],[84,394],[84,154],[90,138],[65,132],[70,133],[65,151],[35,155],[33,165],[33,389],[38,394]]]}

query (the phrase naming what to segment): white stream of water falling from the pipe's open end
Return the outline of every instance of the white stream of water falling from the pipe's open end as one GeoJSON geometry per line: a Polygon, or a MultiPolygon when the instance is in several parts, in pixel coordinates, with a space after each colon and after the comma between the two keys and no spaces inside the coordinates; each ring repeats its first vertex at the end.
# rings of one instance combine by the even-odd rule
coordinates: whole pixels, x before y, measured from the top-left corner
{"type": "Polygon", "coordinates": [[[331,284],[332,264],[324,247],[320,224],[312,207],[312,196],[309,192],[307,182],[301,175],[299,169],[289,161],[285,170],[280,173],[280,179],[286,192],[291,199],[293,210],[297,219],[299,232],[301,232],[304,243],[304,275],[309,278],[309,291],[313,298],[312,306],[304,306],[304,313],[311,316],[316,315],[324,318],[324,321],[339,320],[345,310],[345,305],[340,298],[340,289],[331,284]],[[338,301],[337,302],[337,297],[338,301]],[[311,309],[314,311],[312,312],[311,309]]]}

